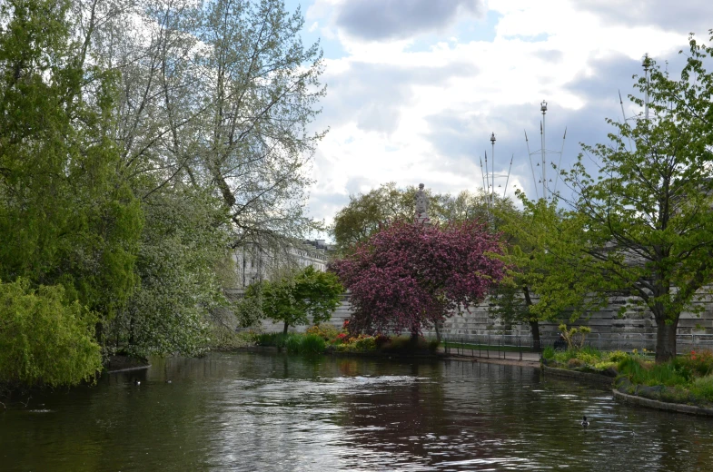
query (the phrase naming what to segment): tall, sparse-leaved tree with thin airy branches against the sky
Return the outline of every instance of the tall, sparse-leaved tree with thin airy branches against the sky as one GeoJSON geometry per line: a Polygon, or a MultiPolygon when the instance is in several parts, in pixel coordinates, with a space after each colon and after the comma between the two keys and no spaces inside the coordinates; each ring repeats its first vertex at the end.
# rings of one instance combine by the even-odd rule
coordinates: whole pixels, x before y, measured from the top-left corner
{"type": "MultiPolygon", "coordinates": [[[[300,10],[282,0],[117,0],[100,8],[98,61],[121,72],[114,135],[127,165],[209,188],[229,209],[234,246],[287,244],[304,215],[323,133],[322,53],[305,47],[300,10]]],[[[91,15],[84,15],[90,17],[91,15]]]]}

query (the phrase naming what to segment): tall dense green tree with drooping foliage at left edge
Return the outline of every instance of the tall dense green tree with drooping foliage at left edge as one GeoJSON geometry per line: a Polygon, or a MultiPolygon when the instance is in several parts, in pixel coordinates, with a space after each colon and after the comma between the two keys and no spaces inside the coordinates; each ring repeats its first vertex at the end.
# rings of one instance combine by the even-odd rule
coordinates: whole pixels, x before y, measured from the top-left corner
{"type": "Polygon", "coordinates": [[[85,64],[70,5],[0,5],[0,278],[62,284],[101,336],[134,288],[143,218],[106,134],[114,75],[85,64]]]}

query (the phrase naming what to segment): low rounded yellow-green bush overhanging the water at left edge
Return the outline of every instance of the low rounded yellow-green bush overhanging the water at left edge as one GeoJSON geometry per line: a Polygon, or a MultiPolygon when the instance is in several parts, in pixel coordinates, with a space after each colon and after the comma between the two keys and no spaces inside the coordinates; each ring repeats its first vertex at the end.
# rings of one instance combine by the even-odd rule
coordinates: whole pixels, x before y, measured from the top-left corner
{"type": "Polygon", "coordinates": [[[102,369],[94,314],[64,298],[59,285],[33,290],[23,279],[0,282],[1,382],[75,385],[102,369]]]}

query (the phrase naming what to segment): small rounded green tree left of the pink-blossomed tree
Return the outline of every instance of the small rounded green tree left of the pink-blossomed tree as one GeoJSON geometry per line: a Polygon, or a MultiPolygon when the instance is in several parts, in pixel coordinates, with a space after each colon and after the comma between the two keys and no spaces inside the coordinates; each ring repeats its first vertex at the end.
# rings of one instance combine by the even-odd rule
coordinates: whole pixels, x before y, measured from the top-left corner
{"type": "Polygon", "coordinates": [[[284,323],[284,333],[290,326],[330,320],[344,291],[336,275],[312,266],[257,285],[246,298],[258,298],[265,317],[284,323]]]}

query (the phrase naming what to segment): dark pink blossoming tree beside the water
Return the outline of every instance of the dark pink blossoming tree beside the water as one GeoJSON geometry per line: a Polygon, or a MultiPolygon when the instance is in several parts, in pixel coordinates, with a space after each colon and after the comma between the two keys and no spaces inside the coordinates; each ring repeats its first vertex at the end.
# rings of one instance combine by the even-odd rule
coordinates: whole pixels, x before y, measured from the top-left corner
{"type": "Polygon", "coordinates": [[[445,227],[397,221],[332,263],[352,291],[352,332],[421,329],[479,303],[505,273],[498,235],[469,221],[445,227]]]}

